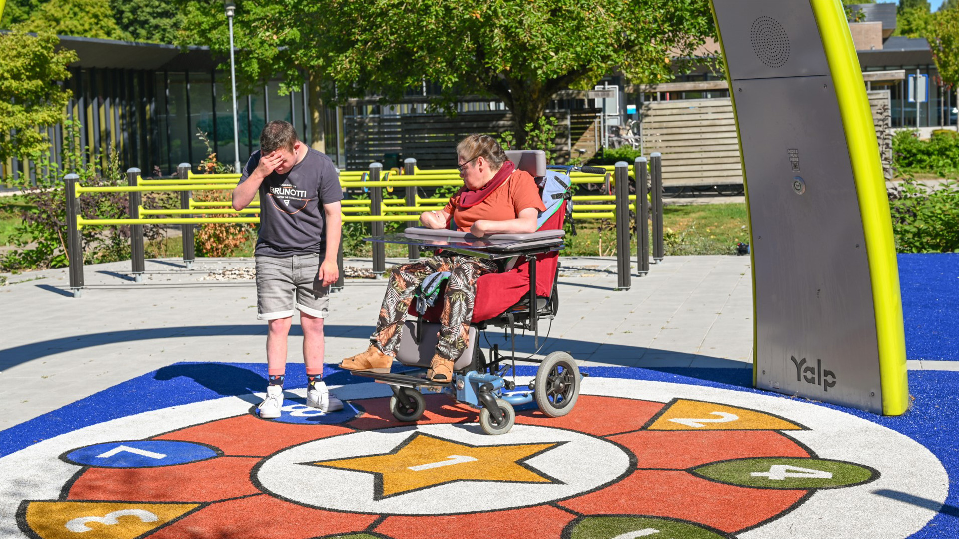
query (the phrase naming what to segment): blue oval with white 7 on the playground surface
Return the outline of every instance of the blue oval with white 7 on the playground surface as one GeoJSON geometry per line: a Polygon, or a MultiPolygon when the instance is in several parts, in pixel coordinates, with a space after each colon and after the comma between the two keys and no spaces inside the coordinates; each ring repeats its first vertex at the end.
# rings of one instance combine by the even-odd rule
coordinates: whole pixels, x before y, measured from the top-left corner
{"type": "Polygon", "coordinates": [[[153,468],[217,457],[217,450],[178,440],[129,440],[88,445],[68,452],[64,460],[99,468],[153,468]]]}

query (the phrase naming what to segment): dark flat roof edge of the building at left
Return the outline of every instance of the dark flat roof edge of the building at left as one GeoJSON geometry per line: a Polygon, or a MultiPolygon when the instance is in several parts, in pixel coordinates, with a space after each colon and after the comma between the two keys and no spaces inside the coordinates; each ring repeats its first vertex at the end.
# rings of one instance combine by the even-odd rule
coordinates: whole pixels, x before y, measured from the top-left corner
{"type": "Polygon", "coordinates": [[[77,52],[71,67],[146,69],[151,71],[210,71],[221,63],[207,47],[180,49],[174,45],[113,41],[59,35],[60,47],[77,52]]]}

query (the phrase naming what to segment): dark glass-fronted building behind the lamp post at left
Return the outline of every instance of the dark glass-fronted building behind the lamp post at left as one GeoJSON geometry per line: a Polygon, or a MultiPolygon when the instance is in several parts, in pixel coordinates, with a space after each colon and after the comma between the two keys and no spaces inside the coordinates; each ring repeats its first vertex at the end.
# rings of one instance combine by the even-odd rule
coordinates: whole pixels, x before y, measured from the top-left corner
{"type": "MultiPolygon", "coordinates": [[[[73,94],[66,112],[79,127],[86,160],[105,164],[117,152],[123,170],[136,167],[144,176],[174,175],[179,163],[191,163],[197,172],[209,152],[223,164],[234,164],[233,99],[228,72],[217,70],[221,59],[204,48],[60,39],[80,57],[63,84],[73,94]]],[[[241,164],[256,150],[260,130],[271,120],[286,120],[300,139],[311,139],[306,89],[280,95],[280,81],[270,81],[237,96],[241,164]]],[[[326,142],[335,145],[336,111],[329,116],[326,142]]],[[[64,129],[47,129],[47,134],[51,159],[58,161],[64,129]]],[[[336,152],[331,156],[336,158],[336,152]]],[[[2,165],[8,182],[35,174],[29,162],[12,159],[2,165]]]]}

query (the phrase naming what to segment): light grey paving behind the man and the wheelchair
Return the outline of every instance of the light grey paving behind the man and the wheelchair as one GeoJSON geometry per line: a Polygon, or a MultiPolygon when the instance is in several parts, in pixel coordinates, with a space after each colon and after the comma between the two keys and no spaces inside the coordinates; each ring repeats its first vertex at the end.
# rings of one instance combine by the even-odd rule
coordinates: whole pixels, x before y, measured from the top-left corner
{"type": "MultiPolygon", "coordinates": [[[[635,366],[745,364],[737,360],[751,358],[745,342],[752,339],[748,258],[670,256],[625,292],[613,291],[615,258],[562,263],[564,271],[590,269],[593,275],[560,279],[560,314],[540,357],[564,350],[585,364],[635,366]]],[[[369,266],[370,260],[346,265],[369,266]]],[[[210,271],[239,266],[252,266],[252,260],[200,259],[192,271],[176,261],[148,261],[144,284],[124,277],[129,262],[88,267],[89,288],[80,299],[56,292],[68,284],[65,269],[36,272],[42,279],[35,283],[0,289],[0,391],[8,397],[0,401],[0,428],[172,363],[264,362],[267,327],[251,308],[254,284],[199,281],[210,271]]],[[[385,287],[383,279],[351,280],[331,297],[325,362],[339,363],[363,349],[385,287]]],[[[508,344],[499,335],[488,333],[491,341],[508,344]]],[[[291,338],[288,363],[302,362],[300,343],[291,338]]],[[[520,337],[518,346],[518,352],[531,352],[531,336],[520,337]]]]}

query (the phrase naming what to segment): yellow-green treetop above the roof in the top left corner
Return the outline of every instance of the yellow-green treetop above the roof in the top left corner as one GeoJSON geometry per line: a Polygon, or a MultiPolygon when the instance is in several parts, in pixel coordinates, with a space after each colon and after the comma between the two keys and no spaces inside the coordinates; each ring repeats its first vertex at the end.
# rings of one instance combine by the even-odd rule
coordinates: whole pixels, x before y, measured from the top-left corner
{"type": "Polygon", "coordinates": [[[80,35],[101,39],[129,40],[103,0],[49,0],[29,2],[30,18],[23,23],[28,32],[80,35]]]}

